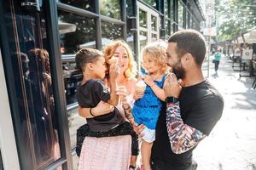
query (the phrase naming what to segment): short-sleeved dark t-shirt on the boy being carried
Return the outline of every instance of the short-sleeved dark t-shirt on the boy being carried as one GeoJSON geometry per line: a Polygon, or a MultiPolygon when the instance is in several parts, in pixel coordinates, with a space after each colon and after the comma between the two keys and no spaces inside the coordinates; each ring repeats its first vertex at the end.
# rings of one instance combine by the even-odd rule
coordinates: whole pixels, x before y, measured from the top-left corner
{"type": "MultiPolygon", "coordinates": [[[[96,107],[101,100],[108,102],[110,99],[109,88],[104,85],[102,80],[90,79],[84,84],[79,85],[77,99],[79,106],[82,108],[96,107]]],[[[107,132],[124,122],[124,119],[120,116],[117,108],[114,108],[113,112],[102,116],[87,118],[86,121],[91,131],[107,132]]]]}

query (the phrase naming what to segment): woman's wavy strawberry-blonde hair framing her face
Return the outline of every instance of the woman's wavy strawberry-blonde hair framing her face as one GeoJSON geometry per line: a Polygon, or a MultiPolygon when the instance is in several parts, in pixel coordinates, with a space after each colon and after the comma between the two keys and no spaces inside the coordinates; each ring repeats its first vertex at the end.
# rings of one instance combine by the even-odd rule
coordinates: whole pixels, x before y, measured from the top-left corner
{"type": "Polygon", "coordinates": [[[128,66],[124,72],[125,78],[135,77],[137,74],[137,64],[133,59],[131,48],[123,40],[116,40],[114,42],[109,43],[108,45],[105,46],[105,48],[103,48],[103,54],[105,56],[106,63],[107,63],[107,71],[109,70],[108,60],[112,58],[116,48],[118,48],[119,46],[125,48],[125,51],[128,56],[128,66]]]}

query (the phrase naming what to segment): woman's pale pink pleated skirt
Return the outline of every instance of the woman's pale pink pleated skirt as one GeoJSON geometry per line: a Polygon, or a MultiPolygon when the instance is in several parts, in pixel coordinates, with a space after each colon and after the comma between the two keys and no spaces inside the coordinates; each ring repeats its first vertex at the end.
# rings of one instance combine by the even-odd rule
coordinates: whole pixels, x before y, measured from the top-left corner
{"type": "Polygon", "coordinates": [[[131,158],[131,135],[85,137],[79,170],[127,170],[131,158]]]}

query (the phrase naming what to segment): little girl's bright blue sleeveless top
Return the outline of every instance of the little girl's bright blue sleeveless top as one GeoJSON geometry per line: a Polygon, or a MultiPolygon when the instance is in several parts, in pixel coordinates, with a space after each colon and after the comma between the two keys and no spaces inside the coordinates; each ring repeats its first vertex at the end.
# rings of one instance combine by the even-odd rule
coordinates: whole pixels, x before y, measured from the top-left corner
{"type": "MultiPolygon", "coordinates": [[[[166,75],[163,76],[160,82],[154,82],[158,87],[163,88],[165,79],[166,75]]],[[[143,98],[137,99],[132,108],[135,122],[144,124],[149,129],[155,129],[162,105],[162,101],[156,97],[152,88],[147,85],[143,98]]]]}

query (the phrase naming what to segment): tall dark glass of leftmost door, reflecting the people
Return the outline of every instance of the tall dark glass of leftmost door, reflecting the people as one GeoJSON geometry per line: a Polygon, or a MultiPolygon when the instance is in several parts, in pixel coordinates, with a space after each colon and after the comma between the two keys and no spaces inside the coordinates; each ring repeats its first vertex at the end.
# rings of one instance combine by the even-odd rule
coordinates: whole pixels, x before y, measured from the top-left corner
{"type": "MultiPolygon", "coordinates": [[[[44,6],[43,6],[44,8],[44,6]]],[[[61,157],[44,10],[27,14],[20,3],[4,3],[4,21],[14,79],[15,135],[21,169],[44,169],[61,157]]]]}

